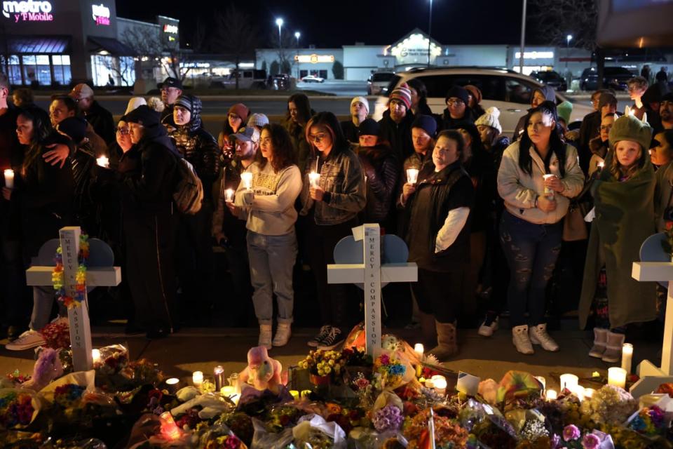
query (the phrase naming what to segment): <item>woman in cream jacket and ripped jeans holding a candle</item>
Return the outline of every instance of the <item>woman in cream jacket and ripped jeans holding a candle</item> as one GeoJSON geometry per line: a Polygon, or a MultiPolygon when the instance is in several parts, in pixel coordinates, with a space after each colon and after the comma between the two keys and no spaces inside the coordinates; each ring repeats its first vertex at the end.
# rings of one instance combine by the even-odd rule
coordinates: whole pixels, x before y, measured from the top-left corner
{"type": "Polygon", "coordinates": [[[500,241],[510,267],[512,342],[520,353],[533,354],[533,344],[559,349],[547,333],[545,288],[561,248],[569,199],[582,190],[584,175],[575,148],[562,140],[554,102],[531,109],[525,123],[521,139],[503,154],[498,194],[505,201],[500,241]],[[547,173],[555,176],[544,180],[547,173]],[[555,196],[545,195],[545,187],[555,196]]]}

